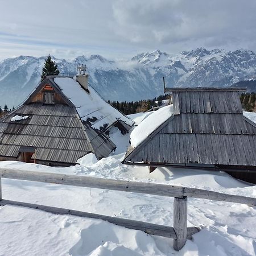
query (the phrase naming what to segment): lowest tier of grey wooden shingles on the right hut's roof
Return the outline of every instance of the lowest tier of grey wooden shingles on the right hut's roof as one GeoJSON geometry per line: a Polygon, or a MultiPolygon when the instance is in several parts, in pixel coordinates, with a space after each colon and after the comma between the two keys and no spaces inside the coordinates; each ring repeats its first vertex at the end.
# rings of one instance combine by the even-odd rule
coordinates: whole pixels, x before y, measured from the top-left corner
{"type": "Polygon", "coordinates": [[[158,133],[130,162],[256,166],[254,135],[158,133]],[[155,148],[159,148],[158,151],[155,148]]]}

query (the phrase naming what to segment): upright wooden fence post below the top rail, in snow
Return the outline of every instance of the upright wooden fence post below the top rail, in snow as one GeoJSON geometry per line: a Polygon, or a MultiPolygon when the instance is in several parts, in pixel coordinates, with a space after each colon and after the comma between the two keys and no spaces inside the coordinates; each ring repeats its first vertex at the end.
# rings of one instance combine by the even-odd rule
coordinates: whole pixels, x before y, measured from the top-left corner
{"type": "Polygon", "coordinates": [[[179,251],[187,241],[187,196],[183,199],[174,197],[174,250],[179,251]]]}

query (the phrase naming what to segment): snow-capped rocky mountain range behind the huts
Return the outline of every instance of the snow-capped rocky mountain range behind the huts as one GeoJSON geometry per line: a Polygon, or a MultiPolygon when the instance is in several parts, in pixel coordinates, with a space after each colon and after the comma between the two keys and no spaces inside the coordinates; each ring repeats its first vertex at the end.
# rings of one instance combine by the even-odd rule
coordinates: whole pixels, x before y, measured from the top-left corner
{"type": "MultiPolygon", "coordinates": [[[[0,105],[18,105],[40,81],[46,57],[19,56],[0,62],[0,105]]],[[[256,76],[256,55],[239,49],[225,52],[198,48],[169,55],[156,50],[130,60],[113,61],[100,55],[79,56],[72,61],[53,59],[61,73],[76,73],[86,64],[90,84],[112,101],[135,101],[163,94],[163,76],[169,87],[230,86],[256,76]]]]}

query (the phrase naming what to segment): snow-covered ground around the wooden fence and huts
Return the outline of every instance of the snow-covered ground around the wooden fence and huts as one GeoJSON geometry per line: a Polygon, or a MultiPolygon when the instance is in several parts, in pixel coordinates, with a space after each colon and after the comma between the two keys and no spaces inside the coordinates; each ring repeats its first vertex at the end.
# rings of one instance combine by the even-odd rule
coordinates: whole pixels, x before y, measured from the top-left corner
{"type": "MultiPolygon", "coordinates": [[[[144,114],[143,114],[144,115],[144,114]]],[[[139,114],[132,118],[138,123],[139,114]]],[[[125,166],[121,160],[129,135],[110,134],[117,152],[96,161],[91,155],[83,165],[46,167],[39,164],[0,162],[1,168],[107,177],[118,180],[184,185],[256,197],[256,186],[238,181],[225,172],[125,166]]],[[[55,207],[173,225],[173,199],[102,189],[2,179],[3,198],[55,207]]],[[[0,255],[255,255],[256,209],[247,205],[188,199],[188,226],[200,226],[179,252],[173,240],[149,236],[102,220],[56,215],[41,210],[0,207],[0,255]]]]}

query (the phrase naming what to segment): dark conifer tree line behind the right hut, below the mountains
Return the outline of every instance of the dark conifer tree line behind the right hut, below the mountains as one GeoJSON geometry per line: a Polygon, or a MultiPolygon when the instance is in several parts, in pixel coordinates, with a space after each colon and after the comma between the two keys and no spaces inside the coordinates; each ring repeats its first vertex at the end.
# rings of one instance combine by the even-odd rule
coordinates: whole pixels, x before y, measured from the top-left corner
{"type": "MultiPolygon", "coordinates": [[[[163,100],[170,99],[170,94],[161,95],[152,100],[141,101],[108,101],[112,106],[120,110],[123,114],[130,115],[139,112],[146,112],[151,108],[163,105],[163,100]]],[[[256,112],[256,93],[242,93],[240,96],[242,108],[248,112],[256,112]]]]}

